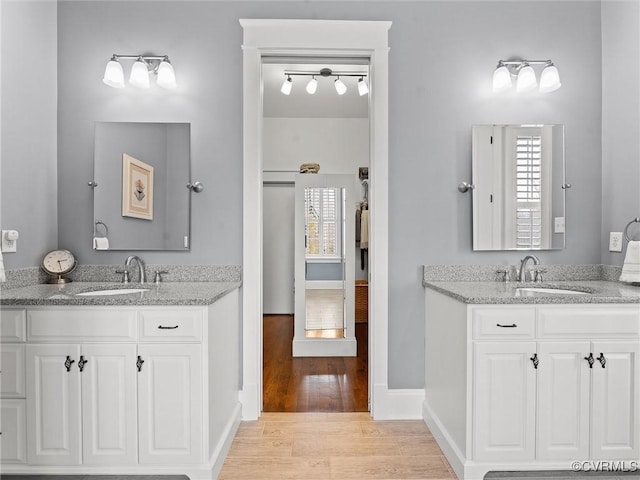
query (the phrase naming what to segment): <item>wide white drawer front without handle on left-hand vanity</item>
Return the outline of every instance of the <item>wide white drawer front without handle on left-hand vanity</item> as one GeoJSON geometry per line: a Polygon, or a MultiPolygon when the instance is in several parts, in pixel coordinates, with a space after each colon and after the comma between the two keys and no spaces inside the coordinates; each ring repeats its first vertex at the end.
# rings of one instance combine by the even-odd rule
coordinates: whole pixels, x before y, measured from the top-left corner
{"type": "Polygon", "coordinates": [[[136,340],[136,310],[116,308],[73,308],[29,310],[27,338],[30,341],[136,340]]]}

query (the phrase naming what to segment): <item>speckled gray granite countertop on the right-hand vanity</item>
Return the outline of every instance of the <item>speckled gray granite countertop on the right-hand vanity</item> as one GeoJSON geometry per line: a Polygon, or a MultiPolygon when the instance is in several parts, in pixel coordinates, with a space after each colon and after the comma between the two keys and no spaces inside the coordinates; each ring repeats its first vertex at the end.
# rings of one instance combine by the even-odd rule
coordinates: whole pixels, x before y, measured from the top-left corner
{"type": "Polygon", "coordinates": [[[472,304],[640,303],[640,286],[606,280],[529,282],[526,284],[495,281],[423,280],[423,285],[461,302],[472,304]],[[546,292],[519,295],[516,292],[519,287],[562,288],[587,292],[588,295],[546,292]]]}

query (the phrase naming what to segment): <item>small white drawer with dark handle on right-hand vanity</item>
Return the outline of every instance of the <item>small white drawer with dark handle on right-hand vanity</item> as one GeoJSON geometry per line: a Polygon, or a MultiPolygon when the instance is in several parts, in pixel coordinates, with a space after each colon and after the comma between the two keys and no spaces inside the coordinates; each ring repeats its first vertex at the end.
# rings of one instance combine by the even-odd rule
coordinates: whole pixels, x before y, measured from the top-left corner
{"type": "Polygon", "coordinates": [[[535,318],[535,308],[530,307],[473,308],[471,312],[473,338],[476,340],[533,338],[535,318]]]}

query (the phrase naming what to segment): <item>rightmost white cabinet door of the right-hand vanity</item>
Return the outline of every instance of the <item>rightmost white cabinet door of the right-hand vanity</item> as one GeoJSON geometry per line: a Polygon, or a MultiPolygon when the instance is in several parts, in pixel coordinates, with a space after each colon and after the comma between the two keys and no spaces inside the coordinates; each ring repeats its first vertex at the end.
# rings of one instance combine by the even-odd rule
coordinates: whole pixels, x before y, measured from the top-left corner
{"type": "Polygon", "coordinates": [[[640,458],[640,342],[593,342],[591,457],[640,458]]]}

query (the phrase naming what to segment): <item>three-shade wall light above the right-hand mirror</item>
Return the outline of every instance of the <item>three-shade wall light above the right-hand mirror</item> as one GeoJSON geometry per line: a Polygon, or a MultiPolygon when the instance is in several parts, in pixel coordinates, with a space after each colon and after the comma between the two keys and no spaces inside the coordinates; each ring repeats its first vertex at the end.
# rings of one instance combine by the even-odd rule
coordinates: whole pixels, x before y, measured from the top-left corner
{"type": "Polygon", "coordinates": [[[558,69],[551,60],[500,60],[493,72],[493,91],[505,92],[516,81],[517,92],[530,92],[538,87],[542,93],[553,92],[562,86],[558,69]],[[540,85],[531,65],[544,65],[540,85]]]}

